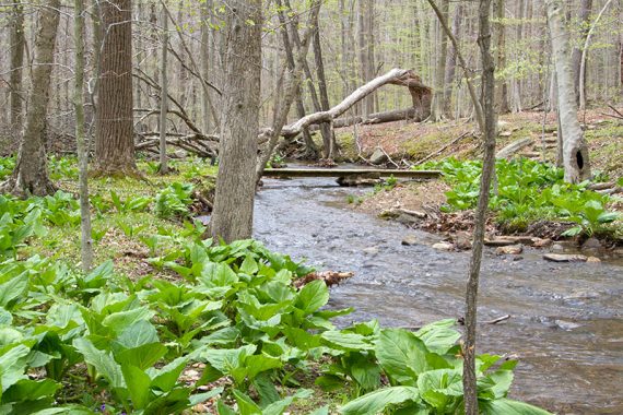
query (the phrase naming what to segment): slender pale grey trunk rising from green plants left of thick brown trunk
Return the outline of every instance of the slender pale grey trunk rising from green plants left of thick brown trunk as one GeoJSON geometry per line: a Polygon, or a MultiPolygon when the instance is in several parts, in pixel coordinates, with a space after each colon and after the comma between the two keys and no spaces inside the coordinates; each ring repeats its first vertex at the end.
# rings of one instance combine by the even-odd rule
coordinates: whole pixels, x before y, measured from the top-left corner
{"type": "Polygon", "coordinates": [[[75,84],[73,108],[75,111],[75,143],[80,181],[80,257],[82,270],[93,265],[93,239],[91,237],[91,210],[89,202],[89,152],[84,133],[84,1],[74,0],[75,84]]]}

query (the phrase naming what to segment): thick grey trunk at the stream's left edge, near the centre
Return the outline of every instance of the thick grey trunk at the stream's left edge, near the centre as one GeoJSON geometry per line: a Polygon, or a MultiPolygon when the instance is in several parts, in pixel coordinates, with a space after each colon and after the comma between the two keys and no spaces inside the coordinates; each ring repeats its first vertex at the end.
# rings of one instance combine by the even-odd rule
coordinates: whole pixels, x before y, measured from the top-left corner
{"type": "Polygon", "coordinates": [[[251,237],[261,80],[261,0],[225,0],[228,28],[223,119],[210,232],[226,242],[251,237]],[[252,22],[252,23],[251,23],[252,22]]]}

